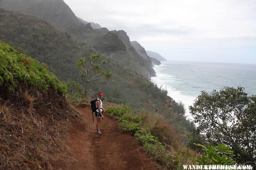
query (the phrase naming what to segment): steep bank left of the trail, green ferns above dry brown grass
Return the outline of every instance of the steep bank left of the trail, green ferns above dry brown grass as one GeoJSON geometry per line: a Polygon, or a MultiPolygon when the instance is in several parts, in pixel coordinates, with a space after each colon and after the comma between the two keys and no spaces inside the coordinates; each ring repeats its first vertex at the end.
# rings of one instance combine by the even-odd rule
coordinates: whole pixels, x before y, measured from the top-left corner
{"type": "MultiPolygon", "coordinates": [[[[0,41],[0,169],[51,168],[76,113],[45,64],[0,41]]],[[[61,156],[60,156],[61,157],[61,156]]]]}

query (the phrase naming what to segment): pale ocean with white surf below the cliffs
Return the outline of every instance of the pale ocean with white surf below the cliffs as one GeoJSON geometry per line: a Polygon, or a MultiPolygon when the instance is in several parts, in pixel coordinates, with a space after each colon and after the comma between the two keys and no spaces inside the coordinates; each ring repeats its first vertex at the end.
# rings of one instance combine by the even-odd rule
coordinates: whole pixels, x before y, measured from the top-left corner
{"type": "Polygon", "coordinates": [[[188,107],[201,91],[212,92],[224,86],[244,87],[248,96],[256,95],[256,65],[235,63],[205,63],[192,61],[161,61],[154,66],[156,77],[152,78],[158,87],[168,91],[168,96],[182,102],[185,115],[193,120],[188,107]]]}

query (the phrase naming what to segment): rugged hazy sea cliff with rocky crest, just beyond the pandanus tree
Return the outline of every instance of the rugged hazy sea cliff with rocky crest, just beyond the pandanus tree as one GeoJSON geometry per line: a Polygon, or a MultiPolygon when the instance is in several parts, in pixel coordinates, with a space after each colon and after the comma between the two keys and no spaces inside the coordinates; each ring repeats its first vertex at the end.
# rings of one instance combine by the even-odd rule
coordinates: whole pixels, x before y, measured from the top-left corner
{"type": "Polygon", "coordinates": [[[125,64],[136,70],[148,80],[155,76],[151,61],[144,59],[135,51],[125,31],[109,31],[102,37],[94,38],[91,45],[121,65],[125,64]]]}

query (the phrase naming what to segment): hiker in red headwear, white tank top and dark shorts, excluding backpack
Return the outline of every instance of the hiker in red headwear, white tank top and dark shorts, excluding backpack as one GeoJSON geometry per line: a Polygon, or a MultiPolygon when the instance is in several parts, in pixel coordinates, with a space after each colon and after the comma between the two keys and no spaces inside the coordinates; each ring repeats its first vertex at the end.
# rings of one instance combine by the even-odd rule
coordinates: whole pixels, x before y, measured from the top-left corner
{"type": "Polygon", "coordinates": [[[97,130],[95,131],[95,133],[98,133],[98,134],[102,134],[101,131],[100,131],[100,123],[101,123],[101,119],[104,118],[103,116],[103,113],[106,112],[106,110],[102,107],[102,96],[103,94],[102,93],[99,93],[98,94],[98,99],[96,101],[96,111],[95,111],[95,116],[97,118],[97,123],[96,123],[96,128],[97,130]]]}

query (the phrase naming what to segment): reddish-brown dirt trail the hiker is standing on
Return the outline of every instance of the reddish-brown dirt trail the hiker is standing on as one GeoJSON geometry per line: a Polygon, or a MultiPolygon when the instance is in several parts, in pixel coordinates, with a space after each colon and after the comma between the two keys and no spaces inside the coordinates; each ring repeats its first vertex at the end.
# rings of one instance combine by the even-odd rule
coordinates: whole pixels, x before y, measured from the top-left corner
{"type": "Polygon", "coordinates": [[[95,133],[96,118],[92,122],[90,107],[75,107],[84,122],[72,121],[67,141],[72,164],[55,162],[58,170],[156,170],[152,157],[138,147],[134,138],[118,127],[118,121],[107,114],[101,123],[102,135],[95,133]]]}

